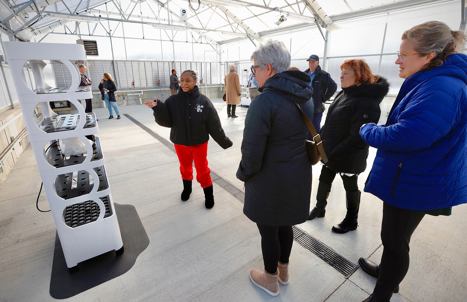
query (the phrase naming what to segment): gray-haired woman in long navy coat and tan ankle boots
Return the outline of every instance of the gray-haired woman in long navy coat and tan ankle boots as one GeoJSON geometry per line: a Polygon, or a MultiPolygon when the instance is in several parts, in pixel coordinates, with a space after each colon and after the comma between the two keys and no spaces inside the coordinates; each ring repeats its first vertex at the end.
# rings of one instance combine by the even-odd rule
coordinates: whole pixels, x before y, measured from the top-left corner
{"type": "Polygon", "coordinates": [[[294,103],[309,119],[313,103],[310,76],[287,70],[290,53],[283,42],[269,40],[251,59],[255,62],[251,71],[262,93],[248,108],[237,178],[245,182],[243,213],[261,234],[264,270],[250,270],[250,279],[276,296],[278,282],[289,282],[292,225],[305,222],[310,209],[308,128],[294,103]]]}

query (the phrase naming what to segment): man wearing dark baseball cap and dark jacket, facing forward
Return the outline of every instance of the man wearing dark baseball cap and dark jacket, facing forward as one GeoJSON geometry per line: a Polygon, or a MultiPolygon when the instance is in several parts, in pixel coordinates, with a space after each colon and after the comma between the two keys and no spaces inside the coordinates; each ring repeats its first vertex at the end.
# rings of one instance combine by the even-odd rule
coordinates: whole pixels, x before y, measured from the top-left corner
{"type": "Polygon", "coordinates": [[[323,117],[323,103],[329,100],[337,90],[337,84],[333,81],[329,73],[322,70],[319,66],[319,57],[311,55],[308,60],[309,69],[305,70],[311,77],[310,87],[313,90],[313,101],[315,103],[315,112],[311,123],[316,131],[321,129],[321,118],[323,117]]]}

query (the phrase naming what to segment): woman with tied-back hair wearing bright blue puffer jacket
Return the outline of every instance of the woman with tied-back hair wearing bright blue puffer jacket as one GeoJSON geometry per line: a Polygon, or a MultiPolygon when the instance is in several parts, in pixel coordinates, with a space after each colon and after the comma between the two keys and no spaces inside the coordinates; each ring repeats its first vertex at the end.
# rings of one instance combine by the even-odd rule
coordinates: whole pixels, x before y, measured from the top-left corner
{"type": "Polygon", "coordinates": [[[365,191],[384,202],[381,264],[359,264],[378,279],[365,300],[389,301],[409,269],[409,242],[425,216],[450,215],[467,203],[466,36],[425,22],[402,35],[396,64],[405,79],[386,125],[363,125],[378,149],[365,191]]]}

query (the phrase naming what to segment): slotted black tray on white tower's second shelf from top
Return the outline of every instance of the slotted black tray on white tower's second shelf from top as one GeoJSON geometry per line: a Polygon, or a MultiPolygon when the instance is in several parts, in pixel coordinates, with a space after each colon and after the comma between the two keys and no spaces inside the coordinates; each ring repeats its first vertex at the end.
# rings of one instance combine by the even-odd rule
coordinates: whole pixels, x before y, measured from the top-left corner
{"type": "MultiPolygon", "coordinates": [[[[47,133],[75,130],[78,126],[80,116],[75,114],[55,115],[42,119],[39,128],[47,133]]],[[[83,129],[92,128],[97,125],[94,113],[86,113],[86,123],[83,129]]]]}

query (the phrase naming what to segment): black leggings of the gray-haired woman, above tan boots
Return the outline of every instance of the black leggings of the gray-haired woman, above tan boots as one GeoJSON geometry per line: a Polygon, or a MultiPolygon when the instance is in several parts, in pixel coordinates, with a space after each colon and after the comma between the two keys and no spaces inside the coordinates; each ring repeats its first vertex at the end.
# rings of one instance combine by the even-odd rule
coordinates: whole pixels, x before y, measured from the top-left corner
{"type": "Polygon", "coordinates": [[[276,274],[278,261],[289,263],[293,244],[292,226],[258,225],[258,230],[261,234],[264,269],[269,274],[276,274]]]}

